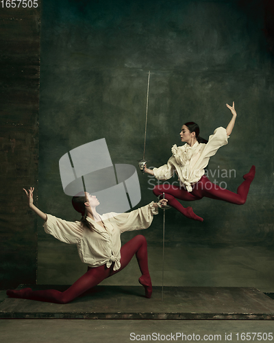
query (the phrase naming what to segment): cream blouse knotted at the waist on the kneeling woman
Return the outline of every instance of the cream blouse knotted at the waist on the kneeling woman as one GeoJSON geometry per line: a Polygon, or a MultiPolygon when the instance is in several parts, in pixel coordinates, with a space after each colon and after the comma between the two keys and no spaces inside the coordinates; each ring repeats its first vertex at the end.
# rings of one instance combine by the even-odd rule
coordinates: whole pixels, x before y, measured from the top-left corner
{"type": "Polygon", "coordinates": [[[132,230],[148,228],[153,220],[153,215],[158,214],[158,207],[151,202],[129,213],[106,213],[101,215],[105,224],[102,228],[97,222],[87,217],[94,229],[90,230],[82,222],[66,222],[53,215],[47,214],[44,223],[46,233],[67,244],[76,244],[79,257],[89,267],[99,267],[106,264],[110,268],[114,262],[114,270],[121,267],[121,233],[132,230]]]}

